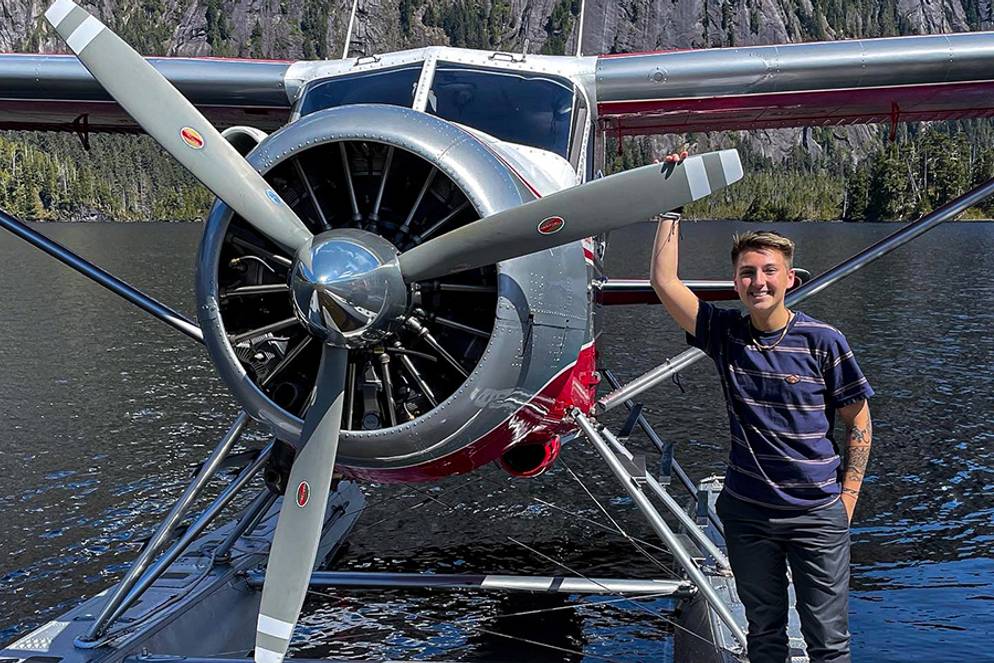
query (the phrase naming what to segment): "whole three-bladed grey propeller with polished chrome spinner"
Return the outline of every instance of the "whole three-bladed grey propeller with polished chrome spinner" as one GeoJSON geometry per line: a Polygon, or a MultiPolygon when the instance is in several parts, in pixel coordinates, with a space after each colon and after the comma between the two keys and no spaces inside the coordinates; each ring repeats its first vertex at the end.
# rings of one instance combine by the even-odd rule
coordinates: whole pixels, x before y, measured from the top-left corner
{"type": "Polygon", "coordinates": [[[296,257],[294,306],[323,350],[273,538],[255,660],[280,663],[304,602],[338,449],[348,347],[382,342],[412,283],[551,249],[649,219],[735,182],[735,150],[611,175],[507,209],[405,253],[356,229],[315,237],[261,175],[158,71],[72,0],[45,17],[135,121],[256,230],[296,257]],[[350,256],[343,259],[342,256],[350,256]]]}

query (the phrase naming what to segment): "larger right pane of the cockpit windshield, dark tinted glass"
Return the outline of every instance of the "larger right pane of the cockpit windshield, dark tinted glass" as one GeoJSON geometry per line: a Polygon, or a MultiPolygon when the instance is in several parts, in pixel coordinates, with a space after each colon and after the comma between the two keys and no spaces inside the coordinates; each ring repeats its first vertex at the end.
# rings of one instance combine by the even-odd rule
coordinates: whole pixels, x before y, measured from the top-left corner
{"type": "Polygon", "coordinates": [[[546,74],[440,62],[426,110],[500,140],[567,157],[573,86],[546,74]]]}

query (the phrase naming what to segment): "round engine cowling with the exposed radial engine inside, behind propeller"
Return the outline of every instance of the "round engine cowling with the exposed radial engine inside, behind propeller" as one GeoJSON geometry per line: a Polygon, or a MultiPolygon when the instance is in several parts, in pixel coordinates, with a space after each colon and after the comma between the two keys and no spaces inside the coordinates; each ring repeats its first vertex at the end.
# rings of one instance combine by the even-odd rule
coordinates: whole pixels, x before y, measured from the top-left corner
{"type": "MultiPolygon", "coordinates": [[[[248,159],[315,233],[359,227],[399,250],[534,197],[478,138],[393,106],[308,115],[248,159]]],[[[290,258],[217,203],[197,299],[222,379],[250,415],[293,442],[320,348],[294,319],[290,258]]],[[[589,337],[586,291],[579,243],[416,284],[407,323],[382,344],[350,350],[339,464],[379,480],[430,479],[554,426],[545,406],[522,406],[576,361],[589,337]],[[509,435],[495,443],[502,425],[509,435]]]]}

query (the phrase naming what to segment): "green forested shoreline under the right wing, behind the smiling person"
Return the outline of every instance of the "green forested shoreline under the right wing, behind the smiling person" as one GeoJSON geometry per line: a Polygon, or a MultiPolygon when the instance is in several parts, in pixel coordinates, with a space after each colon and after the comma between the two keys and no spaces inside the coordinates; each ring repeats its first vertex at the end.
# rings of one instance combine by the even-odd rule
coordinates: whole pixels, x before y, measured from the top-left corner
{"type": "MultiPolygon", "coordinates": [[[[910,221],[994,177],[994,128],[987,120],[876,127],[878,146],[862,159],[848,146],[822,135],[819,156],[800,146],[777,162],[757,154],[744,132],[701,136],[706,149],[735,147],[745,177],[684,210],[696,219],[768,221],[910,221]],[[706,138],[706,140],[703,140],[706,138]]],[[[814,130],[828,132],[829,130],[814,130]]],[[[818,137],[816,137],[818,138],[818,137]]],[[[691,146],[695,136],[689,137],[691,146]]],[[[608,172],[659,158],[647,141],[616,145],[608,172]]],[[[968,209],[963,220],[994,218],[994,199],[968,209]]]]}

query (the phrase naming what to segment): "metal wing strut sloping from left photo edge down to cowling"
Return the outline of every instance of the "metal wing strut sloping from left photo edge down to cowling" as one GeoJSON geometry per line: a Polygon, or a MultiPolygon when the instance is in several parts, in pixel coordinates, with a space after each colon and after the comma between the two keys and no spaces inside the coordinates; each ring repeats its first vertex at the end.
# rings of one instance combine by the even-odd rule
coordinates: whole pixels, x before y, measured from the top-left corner
{"type": "Polygon", "coordinates": [[[145,293],[128,285],[110,272],[76,255],[58,242],[0,210],[0,227],[17,235],[32,246],[41,249],[64,265],[72,267],[83,276],[99,283],[115,295],[123,297],[146,313],[158,318],[170,327],[186,334],[195,341],[204,342],[204,335],[195,322],[172,310],[165,304],[152,299],[145,293]]]}

